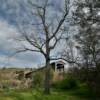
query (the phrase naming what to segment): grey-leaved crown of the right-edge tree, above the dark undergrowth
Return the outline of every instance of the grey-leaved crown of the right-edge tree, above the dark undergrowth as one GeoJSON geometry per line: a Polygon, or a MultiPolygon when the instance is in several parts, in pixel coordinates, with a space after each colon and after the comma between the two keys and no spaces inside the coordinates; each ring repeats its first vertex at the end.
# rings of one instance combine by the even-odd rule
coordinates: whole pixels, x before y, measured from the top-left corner
{"type": "Polygon", "coordinates": [[[75,19],[79,25],[79,33],[75,35],[77,49],[85,59],[84,62],[97,69],[100,60],[100,15],[99,0],[85,0],[77,3],[75,19]]]}

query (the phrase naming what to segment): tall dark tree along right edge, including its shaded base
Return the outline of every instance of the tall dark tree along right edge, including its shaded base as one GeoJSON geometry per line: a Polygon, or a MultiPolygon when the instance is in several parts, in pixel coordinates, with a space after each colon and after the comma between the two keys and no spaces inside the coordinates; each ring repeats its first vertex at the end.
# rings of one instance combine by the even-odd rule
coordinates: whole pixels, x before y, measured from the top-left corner
{"type": "Polygon", "coordinates": [[[92,87],[100,87],[100,0],[76,0],[75,35],[86,80],[92,87]]]}

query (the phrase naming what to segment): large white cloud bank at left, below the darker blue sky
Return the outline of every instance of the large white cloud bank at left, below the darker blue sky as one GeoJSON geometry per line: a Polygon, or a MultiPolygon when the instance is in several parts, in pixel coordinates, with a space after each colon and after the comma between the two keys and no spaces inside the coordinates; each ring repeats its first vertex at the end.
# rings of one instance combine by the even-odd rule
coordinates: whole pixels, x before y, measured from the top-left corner
{"type": "Polygon", "coordinates": [[[0,66],[35,67],[37,64],[42,63],[41,59],[43,57],[40,54],[30,52],[8,58],[8,55],[13,53],[14,48],[18,46],[18,43],[11,37],[16,37],[18,34],[16,27],[0,20],[0,66]]]}

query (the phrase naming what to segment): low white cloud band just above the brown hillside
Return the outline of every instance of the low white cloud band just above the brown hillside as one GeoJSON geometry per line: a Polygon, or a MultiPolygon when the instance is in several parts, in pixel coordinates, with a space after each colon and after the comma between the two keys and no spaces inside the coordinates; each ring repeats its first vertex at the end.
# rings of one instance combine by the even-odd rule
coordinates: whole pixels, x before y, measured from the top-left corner
{"type": "Polygon", "coordinates": [[[24,59],[19,59],[16,57],[9,58],[5,55],[0,55],[0,67],[37,67],[36,63],[26,61],[24,59]]]}

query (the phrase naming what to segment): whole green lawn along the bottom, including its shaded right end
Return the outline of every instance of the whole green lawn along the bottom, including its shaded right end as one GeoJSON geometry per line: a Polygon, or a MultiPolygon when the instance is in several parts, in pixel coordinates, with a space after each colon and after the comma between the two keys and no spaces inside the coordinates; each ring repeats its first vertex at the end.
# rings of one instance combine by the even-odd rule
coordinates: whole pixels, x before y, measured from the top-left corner
{"type": "Polygon", "coordinates": [[[87,90],[52,90],[50,95],[44,95],[41,90],[1,90],[0,100],[100,100],[87,90]]]}

